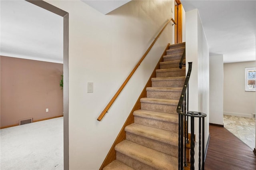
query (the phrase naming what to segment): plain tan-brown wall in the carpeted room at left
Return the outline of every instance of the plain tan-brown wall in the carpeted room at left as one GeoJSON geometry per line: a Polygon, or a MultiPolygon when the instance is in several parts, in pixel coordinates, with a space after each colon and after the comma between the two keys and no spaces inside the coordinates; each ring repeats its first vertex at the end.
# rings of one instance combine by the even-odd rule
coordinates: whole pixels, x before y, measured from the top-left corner
{"type": "Polygon", "coordinates": [[[63,115],[63,64],[1,56],[1,127],[63,115]],[[46,112],[46,108],[49,112],[46,112]]]}

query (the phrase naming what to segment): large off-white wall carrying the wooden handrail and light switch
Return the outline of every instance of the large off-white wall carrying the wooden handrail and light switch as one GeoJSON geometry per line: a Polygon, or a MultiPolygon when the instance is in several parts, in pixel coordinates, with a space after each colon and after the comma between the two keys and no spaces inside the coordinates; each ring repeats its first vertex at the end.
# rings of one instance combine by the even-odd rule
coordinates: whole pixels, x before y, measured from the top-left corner
{"type": "Polygon", "coordinates": [[[82,1],[48,1],[69,13],[69,165],[99,169],[167,43],[169,24],[101,122],[98,115],[144,54],[174,1],[131,1],[103,15],[82,1]],[[94,82],[94,93],[86,93],[94,82]]]}

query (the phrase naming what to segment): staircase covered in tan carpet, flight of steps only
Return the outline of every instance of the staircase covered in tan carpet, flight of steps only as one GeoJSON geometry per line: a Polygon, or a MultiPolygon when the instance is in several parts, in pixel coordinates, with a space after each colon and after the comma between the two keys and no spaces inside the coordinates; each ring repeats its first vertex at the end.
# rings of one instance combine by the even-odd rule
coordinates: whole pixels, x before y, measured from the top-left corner
{"type": "Polygon", "coordinates": [[[178,113],[176,108],[185,81],[185,68],[179,69],[185,43],[170,45],[134,111],[134,123],[125,127],[126,140],[115,146],[116,160],[104,170],[177,170],[178,113]]]}

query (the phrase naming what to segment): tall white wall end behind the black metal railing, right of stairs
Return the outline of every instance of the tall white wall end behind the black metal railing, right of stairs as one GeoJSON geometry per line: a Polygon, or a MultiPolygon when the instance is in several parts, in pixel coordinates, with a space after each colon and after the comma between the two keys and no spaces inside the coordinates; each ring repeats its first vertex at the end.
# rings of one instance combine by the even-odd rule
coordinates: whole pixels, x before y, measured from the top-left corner
{"type": "MultiPolygon", "coordinates": [[[[189,111],[207,114],[205,144],[209,136],[209,47],[197,9],[186,12],[186,63],[192,63],[189,80],[189,111]]],[[[186,65],[186,69],[188,65],[186,65]]],[[[198,121],[195,134],[198,141],[198,121]]],[[[198,143],[195,145],[195,169],[198,169],[198,143]]]]}

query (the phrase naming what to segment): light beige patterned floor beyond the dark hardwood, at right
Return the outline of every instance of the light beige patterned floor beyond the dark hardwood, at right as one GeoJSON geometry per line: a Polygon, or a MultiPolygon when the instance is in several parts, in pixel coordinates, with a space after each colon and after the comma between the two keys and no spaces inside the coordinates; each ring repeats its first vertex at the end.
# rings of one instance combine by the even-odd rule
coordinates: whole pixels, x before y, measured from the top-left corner
{"type": "Polygon", "coordinates": [[[224,128],[240,138],[251,149],[255,148],[255,119],[223,115],[224,128]]]}

